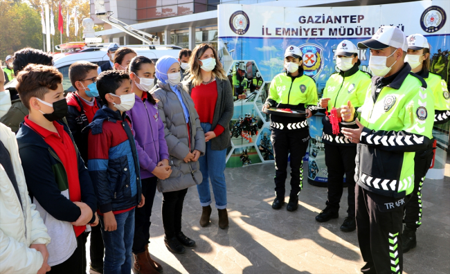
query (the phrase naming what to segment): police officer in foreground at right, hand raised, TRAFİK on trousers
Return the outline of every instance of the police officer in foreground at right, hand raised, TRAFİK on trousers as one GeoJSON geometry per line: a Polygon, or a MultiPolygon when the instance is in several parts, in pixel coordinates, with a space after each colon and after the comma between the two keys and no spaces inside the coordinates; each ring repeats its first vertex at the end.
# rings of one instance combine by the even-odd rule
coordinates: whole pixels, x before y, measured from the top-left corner
{"type": "MultiPolygon", "coordinates": [[[[422,77],[404,63],[408,43],[402,30],[381,26],[370,48],[374,74],[361,107],[358,129],[343,128],[358,143],[354,179],[357,233],[366,265],[363,273],[402,273],[404,204],[414,188],[414,155],[429,144],[433,129],[433,95],[422,77]]],[[[352,104],[341,108],[344,121],[354,120],[352,104]]]]}

